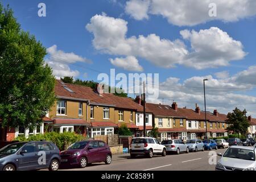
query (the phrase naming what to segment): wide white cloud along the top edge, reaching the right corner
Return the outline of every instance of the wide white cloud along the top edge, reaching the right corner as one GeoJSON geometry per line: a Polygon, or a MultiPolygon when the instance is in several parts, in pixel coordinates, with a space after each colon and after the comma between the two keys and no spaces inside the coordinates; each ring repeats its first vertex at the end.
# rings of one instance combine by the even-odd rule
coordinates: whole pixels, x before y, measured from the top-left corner
{"type": "MultiPolygon", "coordinates": [[[[126,7],[130,2],[126,3],[126,7]]],[[[137,0],[137,4],[143,0],[137,0]]],[[[145,5],[146,6],[146,5],[145,5]]],[[[256,14],[255,0],[151,0],[147,7],[148,11],[143,16],[162,15],[169,23],[177,26],[195,26],[196,24],[209,22],[211,20],[222,20],[223,22],[236,22],[239,19],[254,16],[256,14]],[[215,3],[217,16],[209,16],[209,4],[215,3]]],[[[126,11],[135,19],[139,19],[141,12],[126,11]]]]}

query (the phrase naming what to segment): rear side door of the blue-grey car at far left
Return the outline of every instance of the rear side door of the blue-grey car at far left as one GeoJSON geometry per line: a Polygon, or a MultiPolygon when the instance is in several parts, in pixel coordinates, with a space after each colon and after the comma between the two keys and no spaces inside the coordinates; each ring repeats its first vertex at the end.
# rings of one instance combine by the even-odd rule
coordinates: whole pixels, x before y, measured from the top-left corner
{"type": "Polygon", "coordinates": [[[52,155],[54,154],[54,148],[53,146],[51,146],[50,143],[48,142],[38,142],[36,143],[37,146],[38,146],[38,155],[39,157],[42,156],[42,155],[45,155],[45,157],[41,157],[39,158],[39,162],[40,162],[40,168],[44,168],[44,167],[47,167],[49,166],[48,164],[51,162],[51,157],[52,155]],[[45,161],[44,161],[45,159],[45,161]]]}

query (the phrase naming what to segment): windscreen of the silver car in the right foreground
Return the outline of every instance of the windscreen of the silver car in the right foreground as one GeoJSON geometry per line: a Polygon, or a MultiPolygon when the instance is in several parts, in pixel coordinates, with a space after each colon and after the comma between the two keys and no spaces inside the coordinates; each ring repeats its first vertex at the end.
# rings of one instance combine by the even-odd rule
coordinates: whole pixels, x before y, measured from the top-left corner
{"type": "Polygon", "coordinates": [[[223,156],[225,158],[235,158],[235,159],[255,161],[254,150],[247,150],[245,148],[229,148],[223,156]]]}

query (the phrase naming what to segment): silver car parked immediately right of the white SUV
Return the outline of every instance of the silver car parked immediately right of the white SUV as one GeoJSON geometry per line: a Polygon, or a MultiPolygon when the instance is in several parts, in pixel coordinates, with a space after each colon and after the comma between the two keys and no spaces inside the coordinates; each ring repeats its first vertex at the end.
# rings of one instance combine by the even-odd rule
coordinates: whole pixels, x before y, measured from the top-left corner
{"type": "Polygon", "coordinates": [[[167,152],[176,152],[176,154],[180,154],[180,152],[189,152],[189,148],[187,144],[185,144],[180,139],[174,139],[174,140],[163,140],[162,144],[166,146],[167,152]]]}

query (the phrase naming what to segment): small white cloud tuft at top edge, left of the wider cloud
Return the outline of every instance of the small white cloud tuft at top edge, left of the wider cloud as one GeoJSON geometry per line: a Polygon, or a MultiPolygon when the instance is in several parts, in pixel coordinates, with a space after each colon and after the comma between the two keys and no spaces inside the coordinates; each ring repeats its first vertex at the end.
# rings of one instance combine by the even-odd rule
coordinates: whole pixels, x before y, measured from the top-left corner
{"type": "Polygon", "coordinates": [[[147,11],[150,0],[131,0],[126,1],[125,11],[133,16],[134,19],[148,19],[147,11]]]}

